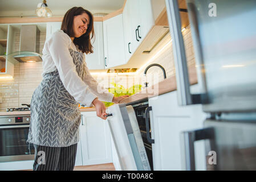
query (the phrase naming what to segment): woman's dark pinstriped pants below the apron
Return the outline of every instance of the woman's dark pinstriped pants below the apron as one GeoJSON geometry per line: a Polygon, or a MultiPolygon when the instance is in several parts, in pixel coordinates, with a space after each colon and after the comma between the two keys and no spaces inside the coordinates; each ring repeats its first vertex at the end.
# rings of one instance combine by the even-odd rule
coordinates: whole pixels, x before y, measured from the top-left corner
{"type": "Polygon", "coordinates": [[[73,171],[78,144],[68,147],[35,147],[34,171],[73,171]]]}

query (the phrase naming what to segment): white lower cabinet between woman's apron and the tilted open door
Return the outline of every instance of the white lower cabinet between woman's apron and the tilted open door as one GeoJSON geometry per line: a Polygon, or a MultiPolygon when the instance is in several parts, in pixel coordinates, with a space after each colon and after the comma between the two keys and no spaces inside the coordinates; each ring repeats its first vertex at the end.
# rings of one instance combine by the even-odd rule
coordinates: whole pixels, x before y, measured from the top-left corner
{"type": "Polygon", "coordinates": [[[80,125],[83,166],[112,163],[111,134],[107,121],[96,111],[82,113],[80,125]]]}

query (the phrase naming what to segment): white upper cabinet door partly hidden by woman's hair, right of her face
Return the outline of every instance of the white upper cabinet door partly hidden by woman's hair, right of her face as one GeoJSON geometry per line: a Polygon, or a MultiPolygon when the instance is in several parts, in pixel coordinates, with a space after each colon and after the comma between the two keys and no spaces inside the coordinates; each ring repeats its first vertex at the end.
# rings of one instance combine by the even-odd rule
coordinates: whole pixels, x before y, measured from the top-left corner
{"type": "Polygon", "coordinates": [[[91,40],[94,53],[86,55],[86,64],[89,69],[105,69],[102,22],[94,22],[94,31],[95,37],[91,40]]]}

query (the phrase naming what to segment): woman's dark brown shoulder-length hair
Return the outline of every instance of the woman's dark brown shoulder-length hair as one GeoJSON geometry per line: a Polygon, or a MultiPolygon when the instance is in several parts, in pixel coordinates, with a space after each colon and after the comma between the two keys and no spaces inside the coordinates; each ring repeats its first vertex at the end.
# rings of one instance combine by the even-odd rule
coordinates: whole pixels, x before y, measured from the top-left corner
{"type": "Polygon", "coordinates": [[[62,27],[60,28],[65,32],[68,36],[74,38],[74,44],[79,47],[80,51],[83,53],[93,53],[91,39],[94,38],[94,16],[88,10],[83,9],[83,7],[72,7],[67,13],[64,15],[62,20],[62,27]],[[74,16],[82,15],[83,13],[88,14],[90,18],[90,24],[88,24],[87,31],[85,34],[80,36],[79,38],[75,38],[73,31],[73,22],[74,16]],[[92,35],[91,35],[92,34],[92,35]]]}

